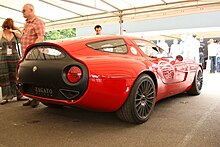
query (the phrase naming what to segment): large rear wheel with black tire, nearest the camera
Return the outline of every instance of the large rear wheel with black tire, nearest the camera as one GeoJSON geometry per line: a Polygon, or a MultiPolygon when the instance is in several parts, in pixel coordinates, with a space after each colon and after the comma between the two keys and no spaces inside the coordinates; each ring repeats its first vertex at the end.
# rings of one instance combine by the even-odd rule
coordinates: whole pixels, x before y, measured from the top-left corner
{"type": "Polygon", "coordinates": [[[142,124],[146,122],[155,106],[156,88],[149,75],[142,74],[135,81],[131,92],[116,111],[116,115],[123,121],[142,124]]]}

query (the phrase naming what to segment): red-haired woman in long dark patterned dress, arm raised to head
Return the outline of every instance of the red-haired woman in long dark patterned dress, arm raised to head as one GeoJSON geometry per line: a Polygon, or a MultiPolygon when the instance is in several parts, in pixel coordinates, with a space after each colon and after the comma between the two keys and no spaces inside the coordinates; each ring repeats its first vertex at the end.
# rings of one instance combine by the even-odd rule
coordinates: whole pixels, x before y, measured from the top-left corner
{"type": "Polygon", "coordinates": [[[15,96],[22,99],[21,93],[16,88],[16,64],[20,57],[16,48],[17,39],[20,38],[21,30],[14,26],[14,21],[7,18],[2,24],[3,32],[0,33],[0,87],[2,91],[1,104],[6,104],[15,96]],[[18,30],[19,32],[13,32],[18,30]]]}

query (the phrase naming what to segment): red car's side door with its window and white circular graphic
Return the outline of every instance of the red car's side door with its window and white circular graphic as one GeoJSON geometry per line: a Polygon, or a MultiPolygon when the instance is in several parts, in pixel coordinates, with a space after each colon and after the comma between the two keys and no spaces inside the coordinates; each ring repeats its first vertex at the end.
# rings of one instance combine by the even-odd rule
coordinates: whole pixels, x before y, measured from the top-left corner
{"type": "Polygon", "coordinates": [[[154,63],[152,67],[156,69],[163,83],[176,83],[185,79],[187,66],[184,62],[175,60],[154,43],[145,40],[134,41],[142,52],[150,57],[148,60],[154,63]]]}

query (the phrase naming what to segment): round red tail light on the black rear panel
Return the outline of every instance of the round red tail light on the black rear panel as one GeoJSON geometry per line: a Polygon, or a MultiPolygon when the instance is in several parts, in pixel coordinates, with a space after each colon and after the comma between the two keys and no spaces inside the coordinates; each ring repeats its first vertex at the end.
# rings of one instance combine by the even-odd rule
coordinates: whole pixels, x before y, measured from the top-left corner
{"type": "Polygon", "coordinates": [[[82,70],[78,66],[73,66],[69,69],[67,73],[67,79],[71,83],[78,82],[82,77],[82,70]]]}

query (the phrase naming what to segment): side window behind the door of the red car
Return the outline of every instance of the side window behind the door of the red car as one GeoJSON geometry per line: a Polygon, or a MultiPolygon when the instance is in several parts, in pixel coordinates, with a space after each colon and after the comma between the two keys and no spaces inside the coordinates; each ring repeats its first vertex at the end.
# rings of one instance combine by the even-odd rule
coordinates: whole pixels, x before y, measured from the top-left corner
{"type": "Polygon", "coordinates": [[[128,51],[127,45],[123,39],[111,39],[91,42],[88,43],[87,46],[94,50],[110,53],[124,54],[128,51]]]}

